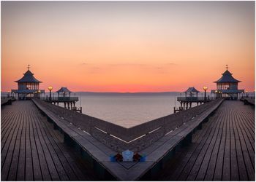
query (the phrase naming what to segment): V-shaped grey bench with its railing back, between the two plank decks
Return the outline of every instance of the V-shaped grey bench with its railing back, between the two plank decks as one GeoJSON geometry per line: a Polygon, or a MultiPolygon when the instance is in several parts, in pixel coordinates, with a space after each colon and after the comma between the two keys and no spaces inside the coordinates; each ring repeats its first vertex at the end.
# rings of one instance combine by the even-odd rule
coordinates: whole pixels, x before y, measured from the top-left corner
{"type": "MultiPolygon", "coordinates": [[[[100,119],[34,99],[37,107],[48,116],[65,143],[88,156],[102,178],[133,181],[148,175],[180,143],[189,142],[192,132],[222,103],[214,100],[201,106],[170,114],[135,127],[125,128],[100,119]],[[168,142],[167,142],[168,141],[168,142]],[[166,145],[167,143],[170,143],[166,145]],[[160,145],[160,146],[159,146],[160,145]],[[146,154],[146,162],[110,162],[110,154],[126,149],[146,154]],[[110,177],[113,176],[113,177],[110,177]]],[[[153,174],[152,174],[153,175],[153,174]]]]}

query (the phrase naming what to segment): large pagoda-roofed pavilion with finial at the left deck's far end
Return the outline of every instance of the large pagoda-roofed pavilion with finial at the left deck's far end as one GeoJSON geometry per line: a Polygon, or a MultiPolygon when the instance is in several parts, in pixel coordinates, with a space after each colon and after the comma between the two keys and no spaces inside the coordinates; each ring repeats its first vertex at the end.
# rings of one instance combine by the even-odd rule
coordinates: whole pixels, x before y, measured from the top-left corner
{"type": "Polygon", "coordinates": [[[34,77],[34,74],[29,70],[26,71],[24,76],[15,81],[18,83],[18,90],[12,90],[12,93],[18,94],[18,99],[26,99],[39,97],[42,93],[45,93],[45,90],[39,90],[39,84],[42,83],[34,77]]]}

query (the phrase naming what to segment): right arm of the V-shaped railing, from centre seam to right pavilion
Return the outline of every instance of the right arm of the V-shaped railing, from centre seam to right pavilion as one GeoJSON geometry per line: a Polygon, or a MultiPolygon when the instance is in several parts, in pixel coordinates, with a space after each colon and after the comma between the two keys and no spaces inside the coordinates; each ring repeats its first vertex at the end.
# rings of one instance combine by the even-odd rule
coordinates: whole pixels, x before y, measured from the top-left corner
{"type": "Polygon", "coordinates": [[[209,108],[216,106],[219,102],[221,102],[221,99],[212,100],[209,103],[204,103],[203,105],[189,108],[176,114],[170,114],[168,116],[131,127],[129,128],[130,138],[138,139],[129,144],[133,149],[146,148],[146,146],[151,145],[151,143],[162,138],[168,132],[176,130],[176,128],[181,127],[184,123],[197,119],[197,116],[208,111],[209,108]]]}

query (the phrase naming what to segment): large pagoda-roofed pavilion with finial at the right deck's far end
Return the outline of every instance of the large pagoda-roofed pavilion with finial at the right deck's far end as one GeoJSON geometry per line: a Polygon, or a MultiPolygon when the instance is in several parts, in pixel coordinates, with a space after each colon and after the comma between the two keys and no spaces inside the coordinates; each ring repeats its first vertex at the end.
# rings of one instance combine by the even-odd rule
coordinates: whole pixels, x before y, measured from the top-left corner
{"type": "Polygon", "coordinates": [[[215,93],[217,98],[230,98],[231,100],[237,100],[238,94],[243,93],[244,90],[238,90],[238,82],[241,82],[235,79],[230,71],[227,70],[222,74],[222,77],[218,79],[217,89],[211,90],[211,93],[215,93]]]}

